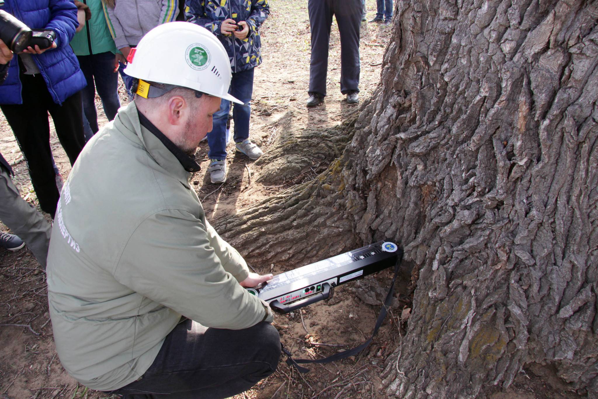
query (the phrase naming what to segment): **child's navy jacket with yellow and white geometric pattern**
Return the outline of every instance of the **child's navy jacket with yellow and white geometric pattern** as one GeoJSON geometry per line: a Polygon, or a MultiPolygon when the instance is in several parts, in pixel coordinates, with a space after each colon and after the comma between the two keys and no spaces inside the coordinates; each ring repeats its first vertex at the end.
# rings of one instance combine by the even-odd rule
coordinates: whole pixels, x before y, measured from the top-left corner
{"type": "Polygon", "coordinates": [[[187,0],[185,5],[185,19],[208,29],[224,44],[233,72],[260,65],[260,25],[270,14],[268,0],[187,0]],[[229,18],[247,22],[249,33],[245,39],[222,35],[222,21],[229,18]]]}

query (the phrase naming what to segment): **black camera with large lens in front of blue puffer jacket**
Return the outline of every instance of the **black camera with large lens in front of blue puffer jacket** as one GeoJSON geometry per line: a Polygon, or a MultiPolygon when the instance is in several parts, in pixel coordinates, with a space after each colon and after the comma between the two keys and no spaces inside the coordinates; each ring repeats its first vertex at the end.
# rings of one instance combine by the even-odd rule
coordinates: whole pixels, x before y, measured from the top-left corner
{"type": "MultiPolygon", "coordinates": [[[[4,0],[0,0],[0,7],[4,0]]],[[[13,53],[20,53],[27,47],[38,45],[41,50],[49,48],[56,40],[56,33],[49,29],[29,29],[20,20],[0,10],[0,39],[13,53]]]]}

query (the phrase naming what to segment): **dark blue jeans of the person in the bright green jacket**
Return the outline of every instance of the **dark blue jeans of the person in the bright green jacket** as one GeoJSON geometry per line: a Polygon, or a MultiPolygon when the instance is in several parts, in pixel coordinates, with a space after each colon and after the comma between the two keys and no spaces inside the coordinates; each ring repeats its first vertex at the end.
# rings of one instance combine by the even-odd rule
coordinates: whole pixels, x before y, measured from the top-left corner
{"type": "Polygon", "coordinates": [[[96,90],[102,99],[102,106],[108,120],[114,119],[120,100],[118,99],[118,75],[114,71],[114,53],[91,54],[77,56],[81,71],[87,80],[87,87],[81,92],[83,99],[83,125],[86,128],[86,141],[90,139],[89,133],[94,135],[97,127],[96,90]],[[94,84],[95,83],[95,84],[94,84]],[[87,123],[86,120],[87,119],[87,123]],[[89,124],[89,129],[87,125],[89,124]]]}

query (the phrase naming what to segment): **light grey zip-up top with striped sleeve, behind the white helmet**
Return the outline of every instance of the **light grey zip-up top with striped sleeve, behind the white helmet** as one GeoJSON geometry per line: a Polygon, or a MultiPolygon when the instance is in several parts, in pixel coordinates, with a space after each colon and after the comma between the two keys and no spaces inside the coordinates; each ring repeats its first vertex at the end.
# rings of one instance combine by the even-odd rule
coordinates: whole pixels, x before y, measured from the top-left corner
{"type": "Polygon", "coordinates": [[[179,13],[178,0],[116,0],[108,10],[108,25],[114,44],[137,45],[145,33],[158,25],[172,22],[179,13]]]}

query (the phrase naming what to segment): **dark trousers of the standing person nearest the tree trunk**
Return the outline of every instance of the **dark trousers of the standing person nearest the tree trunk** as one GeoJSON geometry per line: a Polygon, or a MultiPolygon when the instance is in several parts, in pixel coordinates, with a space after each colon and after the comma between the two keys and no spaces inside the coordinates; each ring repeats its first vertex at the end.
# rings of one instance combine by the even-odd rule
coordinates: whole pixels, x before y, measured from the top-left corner
{"type": "Polygon", "coordinates": [[[333,15],[336,16],[340,33],[340,92],[359,92],[361,0],[309,0],[307,10],[312,30],[308,92],[326,95],[328,44],[333,15]]]}

